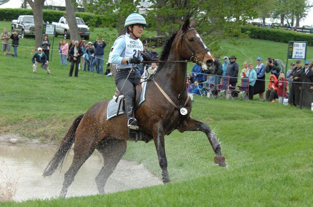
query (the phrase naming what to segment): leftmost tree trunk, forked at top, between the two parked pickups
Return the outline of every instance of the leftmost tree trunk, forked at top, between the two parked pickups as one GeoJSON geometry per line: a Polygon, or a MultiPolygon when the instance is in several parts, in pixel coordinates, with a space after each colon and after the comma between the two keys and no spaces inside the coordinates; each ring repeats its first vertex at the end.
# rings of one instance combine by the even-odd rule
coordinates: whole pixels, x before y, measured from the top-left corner
{"type": "Polygon", "coordinates": [[[43,31],[43,23],[44,23],[44,3],[45,0],[27,0],[27,3],[33,10],[34,15],[34,23],[35,23],[35,47],[38,48],[41,45],[41,35],[43,31]]]}

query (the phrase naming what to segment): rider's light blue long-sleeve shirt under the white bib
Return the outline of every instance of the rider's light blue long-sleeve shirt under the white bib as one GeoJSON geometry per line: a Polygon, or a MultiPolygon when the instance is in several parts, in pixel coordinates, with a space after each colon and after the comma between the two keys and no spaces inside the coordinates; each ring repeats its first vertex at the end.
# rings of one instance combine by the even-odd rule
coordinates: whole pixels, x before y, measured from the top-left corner
{"type": "MultiPolygon", "coordinates": [[[[125,36],[128,36],[131,38],[129,34],[125,34],[125,36]]],[[[114,44],[113,44],[113,51],[111,55],[111,62],[113,64],[116,64],[116,69],[124,69],[124,68],[136,68],[138,67],[139,69],[142,68],[142,64],[123,64],[122,65],[122,60],[125,58],[125,49],[126,49],[126,41],[125,37],[120,36],[118,37],[114,44]]],[[[143,60],[142,56],[139,56],[140,60],[143,60]]]]}

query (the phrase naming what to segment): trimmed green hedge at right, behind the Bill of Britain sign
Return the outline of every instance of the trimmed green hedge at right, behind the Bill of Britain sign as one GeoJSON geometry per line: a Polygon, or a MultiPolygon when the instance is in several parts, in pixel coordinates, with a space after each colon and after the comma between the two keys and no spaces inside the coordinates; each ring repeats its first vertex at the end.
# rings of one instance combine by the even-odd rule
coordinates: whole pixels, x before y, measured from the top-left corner
{"type": "Polygon", "coordinates": [[[286,43],[288,43],[288,41],[307,41],[309,46],[313,46],[313,34],[282,29],[267,29],[252,25],[243,26],[241,31],[243,33],[248,33],[249,37],[254,39],[265,39],[286,43]]]}

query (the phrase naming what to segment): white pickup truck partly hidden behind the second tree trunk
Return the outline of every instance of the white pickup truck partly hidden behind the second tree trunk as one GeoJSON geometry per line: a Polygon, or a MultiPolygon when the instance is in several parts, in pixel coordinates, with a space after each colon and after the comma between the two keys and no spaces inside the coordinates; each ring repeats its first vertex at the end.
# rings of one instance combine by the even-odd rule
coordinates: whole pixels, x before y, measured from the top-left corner
{"type": "MultiPolygon", "coordinates": [[[[81,38],[89,40],[89,27],[85,24],[85,21],[81,18],[76,17],[76,22],[78,26],[79,35],[81,38]]],[[[65,39],[69,39],[70,32],[67,24],[67,19],[65,17],[61,17],[59,22],[52,22],[55,25],[55,33],[54,37],[58,37],[58,35],[64,35],[65,39]]]]}

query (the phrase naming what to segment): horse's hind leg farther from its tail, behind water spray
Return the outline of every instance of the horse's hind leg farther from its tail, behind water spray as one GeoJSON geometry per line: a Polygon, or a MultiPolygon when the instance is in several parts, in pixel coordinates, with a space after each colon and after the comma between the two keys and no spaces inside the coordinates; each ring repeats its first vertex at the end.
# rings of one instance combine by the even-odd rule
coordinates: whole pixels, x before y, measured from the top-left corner
{"type": "Polygon", "coordinates": [[[126,151],[126,141],[118,139],[104,139],[97,147],[102,154],[104,164],[96,177],[96,184],[100,194],[104,194],[104,186],[116,168],[117,163],[121,160],[126,151]]]}

